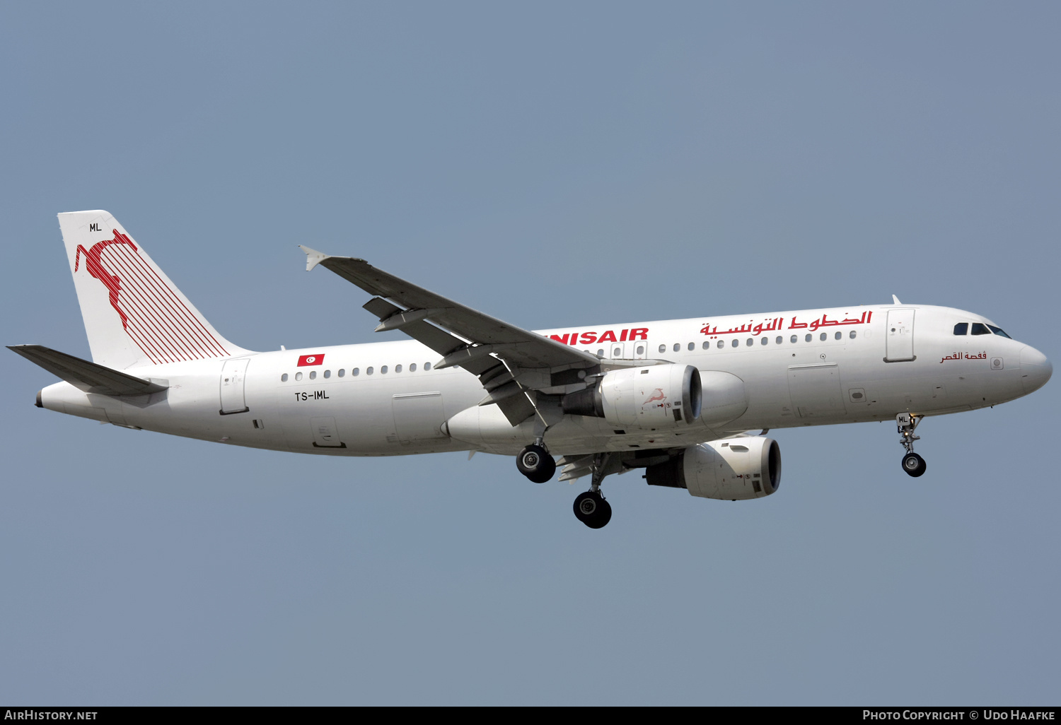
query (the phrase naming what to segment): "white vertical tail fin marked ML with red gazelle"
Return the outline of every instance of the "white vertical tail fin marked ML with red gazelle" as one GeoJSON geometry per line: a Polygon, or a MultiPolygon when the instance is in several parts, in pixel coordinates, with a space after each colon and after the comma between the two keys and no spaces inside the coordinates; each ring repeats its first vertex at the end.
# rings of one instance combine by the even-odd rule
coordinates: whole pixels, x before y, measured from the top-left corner
{"type": "Polygon", "coordinates": [[[207,322],[109,213],[58,217],[93,361],[124,370],[246,352],[207,322]]]}

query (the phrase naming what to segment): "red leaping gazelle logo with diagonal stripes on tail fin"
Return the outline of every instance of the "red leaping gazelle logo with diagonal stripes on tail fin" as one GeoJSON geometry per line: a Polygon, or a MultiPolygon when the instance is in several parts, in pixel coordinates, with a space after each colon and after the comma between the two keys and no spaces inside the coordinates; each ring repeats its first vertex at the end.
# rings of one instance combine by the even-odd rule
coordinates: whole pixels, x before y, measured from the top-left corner
{"type": "Polygon", "coordinates": [[[155,365],[223,357],[229,352],[196,314],[140,255],[136,244],[117,229],[115,238],[88,249],[77,245],[74,272],[85,255],[85,270],[109,291],[122,328],[155,365]]]}

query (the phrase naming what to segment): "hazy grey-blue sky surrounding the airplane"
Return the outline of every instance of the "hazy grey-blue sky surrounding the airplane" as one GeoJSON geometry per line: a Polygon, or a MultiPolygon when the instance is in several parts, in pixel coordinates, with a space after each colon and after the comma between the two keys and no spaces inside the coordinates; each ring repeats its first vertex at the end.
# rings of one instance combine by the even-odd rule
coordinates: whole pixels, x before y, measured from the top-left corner
{"type": "MultiPolygon", "coordinates": [[[[904,302],[1059,356],[1054,3],[7,3],[5,344],[88,356],[107,209],[233,342],[378,339],[297,244],[526,328],[904,302]]],[[[779,493],[299,457],[33,408],[7,353],[0,701],[1056,704],[1058,385],[776,430],[779,493]]]]}

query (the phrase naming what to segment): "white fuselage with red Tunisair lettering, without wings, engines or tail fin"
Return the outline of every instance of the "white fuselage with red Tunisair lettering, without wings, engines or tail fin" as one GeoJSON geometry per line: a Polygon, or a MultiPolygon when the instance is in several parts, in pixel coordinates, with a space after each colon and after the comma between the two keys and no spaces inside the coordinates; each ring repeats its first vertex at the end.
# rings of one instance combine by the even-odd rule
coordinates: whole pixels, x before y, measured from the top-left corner
{"type": "MultiPolygon", "coordinates": [[[[545,441],[571,455],[958,412],[1020,397],[1049,377],[1034,349],[996,334],[955,335],[960,322],[987,320],[950,307],[877,305],[542,331],[604,359],[680,362],[705,375],[702,417],[679,432],[564,415],[545,441]],[[740,378],[737,388],[713,390],[711,372],[740,378]]],[[[438,358],[414,340],[250,353],[125,371],[169,385],[153,395],[117,399],[57,383],[40,401],[117,425],[297,453],[516,454],[534,439],[533,423],[512,427],[497,406],[477,406],[485,393],[474,375],[429,369],[438,358]],[[298,366],[306,355],[324,357],[298,366]]]]}

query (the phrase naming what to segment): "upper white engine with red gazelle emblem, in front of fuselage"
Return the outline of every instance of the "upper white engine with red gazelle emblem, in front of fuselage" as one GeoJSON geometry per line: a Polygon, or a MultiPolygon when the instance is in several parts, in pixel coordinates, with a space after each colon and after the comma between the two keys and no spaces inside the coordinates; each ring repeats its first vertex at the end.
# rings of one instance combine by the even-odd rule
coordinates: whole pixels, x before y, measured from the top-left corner
{"type": "Polygon", "coordinates": [[[563,412],[603,418],[621,428],[656,430],[700,418],[700,373],[691,365],[612,370],[586,390],[563,396],[563,412]]]}

